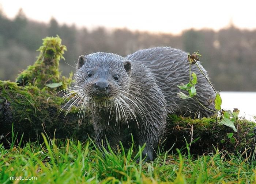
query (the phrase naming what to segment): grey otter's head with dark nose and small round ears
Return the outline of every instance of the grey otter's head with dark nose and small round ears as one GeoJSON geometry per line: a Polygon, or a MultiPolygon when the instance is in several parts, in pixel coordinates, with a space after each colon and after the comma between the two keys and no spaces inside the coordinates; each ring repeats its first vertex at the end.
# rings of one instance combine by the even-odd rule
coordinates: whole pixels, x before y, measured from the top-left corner
{"type": "Polygon", "coordinates": [[[75,73],[77,93],[94,104],[108,102],[128,91],[131,62],[120,55],[97,52],[78,58],[75,73]]]}

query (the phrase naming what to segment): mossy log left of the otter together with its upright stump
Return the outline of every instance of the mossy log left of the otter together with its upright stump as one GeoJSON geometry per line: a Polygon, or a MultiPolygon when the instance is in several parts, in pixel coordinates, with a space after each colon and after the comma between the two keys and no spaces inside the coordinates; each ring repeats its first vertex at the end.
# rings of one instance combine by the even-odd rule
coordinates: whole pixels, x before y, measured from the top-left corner
{"type": "Polygon", "coordinates": [[[41,133],[56,138],[72,137],[80,140],[92,134],[92,125],[81,126],[78,110],[66,113],[61,107],[65,104],[60,90],[72,82],[61,76],[59,61],[64,59],[67,50],[57,37],[46,37],[38,49],[39,56],[35,63],[22,71],[15,82],[0,81],[0,143],[10,142],[13,131],[23,140],[37,140],[41,133]]]}

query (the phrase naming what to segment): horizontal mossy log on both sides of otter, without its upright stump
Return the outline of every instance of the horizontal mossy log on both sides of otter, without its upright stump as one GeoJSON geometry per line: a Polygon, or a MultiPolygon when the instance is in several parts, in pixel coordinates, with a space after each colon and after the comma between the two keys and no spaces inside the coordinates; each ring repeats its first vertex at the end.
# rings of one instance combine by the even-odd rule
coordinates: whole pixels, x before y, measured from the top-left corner
{"type": "MultiPolygon", "coordinates": [[[[24,133],[23,140],[27,141],[36,141],[41,133],[50,137],[55,133],[55,138],[78,138],[81,141],[86,140],[87,135],[93,137],[90,117],[85,117],[86,123],[82,124],[75,107],[65,116],[66,109],[60,113],[64,104],[63,98],[52,91],[0,81],[0,142],[11,141],[12,125],[18,139],[24,133]]],[[[191,144],[191,153],[212,152],[214,146],[229,152],[243,152],[255,147],[255,123],[247,120],[236,122],[237,132],[219,125],[215,117],[192,119],[170,115],[167,122],[166,148],[173,143],[176,148],[181,148],[186,145],[185,140],[190,143],[197,138],[191,144]],[[233,136],[229,138],[228,133],[233,136]]]]}

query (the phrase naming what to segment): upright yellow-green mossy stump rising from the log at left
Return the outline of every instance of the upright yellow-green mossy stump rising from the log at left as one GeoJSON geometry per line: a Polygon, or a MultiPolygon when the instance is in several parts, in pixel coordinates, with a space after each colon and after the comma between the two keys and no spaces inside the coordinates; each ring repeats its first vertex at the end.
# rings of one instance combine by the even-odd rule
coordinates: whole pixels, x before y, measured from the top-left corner
{"type": "MultiPolygon", "coordinates": [[[[64,51],[67,51],[65,45],[61,44],[61,39],[57,37],[46,37],[43,40],[42,46],[39,47],[39,56],[33,65],[27,67],[16,78],[16,83],[20,86],[28,86],[32,84],[39,89],[46,87],[49,84],[56,84],[54,87],[66,88],[67,84],[72,81],[72,75],[69,78],[61,77],[59,71],[60,59],[63,57],[64,51]],[[59,84],[59,85],[58,85],[59,84]]],[[[53,87],[53,88],[54,88],[53,87]]]]}

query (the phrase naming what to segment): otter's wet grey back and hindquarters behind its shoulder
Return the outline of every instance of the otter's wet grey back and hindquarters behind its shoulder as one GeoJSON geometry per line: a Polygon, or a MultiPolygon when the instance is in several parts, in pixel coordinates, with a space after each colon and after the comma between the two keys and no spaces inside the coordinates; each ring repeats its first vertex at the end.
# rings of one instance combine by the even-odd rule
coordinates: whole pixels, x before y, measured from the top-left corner
{"type": "MultiPolygon", "coordinates": [[[[196,99],[180,99],[177,96],[177,93],[181,91],[177,85],[189,82],[189,64],[187,64],[186,52],[171,47],[155,47],[139,50],[126,58],[132,62],[144,64],[153,73],[157,85],[165,95],[168,113],[183,115],[188,109],[192,112],[200,111],[201,107],[196,99]],[[191,106],[192,104],[193,106],[191,106]]],[[[206,74],[200,63],[198,64],[206,74]]],[[[215,93],[196,65],[192,65],[191,71],[197,75],[197,98],[202,104],[207,105],[207,100],[214,98],[215,93]]],[[[214,109],[213,106],[209,108],[214,109]]],[[[209,116],[212,112],[203,109],[201,114],[209,116]]]]}

